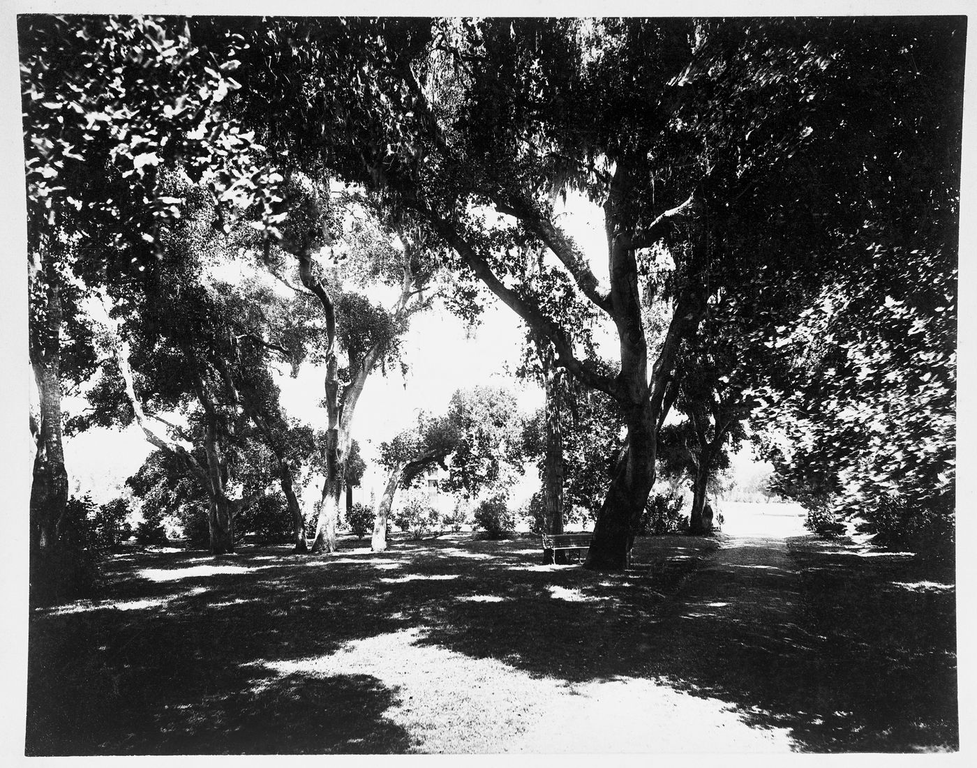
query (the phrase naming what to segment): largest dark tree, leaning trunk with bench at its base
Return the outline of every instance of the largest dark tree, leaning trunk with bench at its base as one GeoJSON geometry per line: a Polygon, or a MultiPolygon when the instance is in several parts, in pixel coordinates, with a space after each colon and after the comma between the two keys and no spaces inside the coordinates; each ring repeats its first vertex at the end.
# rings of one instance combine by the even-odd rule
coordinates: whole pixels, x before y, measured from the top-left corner
{"type": "Polygon", "coordinates": [[[412,211],[560,366],[616,400],[625,449],[587,561],[615,570],[654,483],[676,355],[708,296],[750,282],[809,292],[845,268],[864,213],[848,182],[888,118],[875,107],[940,76],[903,50],[938,48],[956,23],[913,42],[916,21],[289,20],[249,50],[243,108],[266,111],[270,143],[287,135],[280,146],[412,211]],[[607,283],[554,224],[554,180],[603,205],[607,283]],[[524,280],[527,244],[614,323],[614,377],[524,280]],[[654,359],[643,285],[671,310],[654,359]]]}

